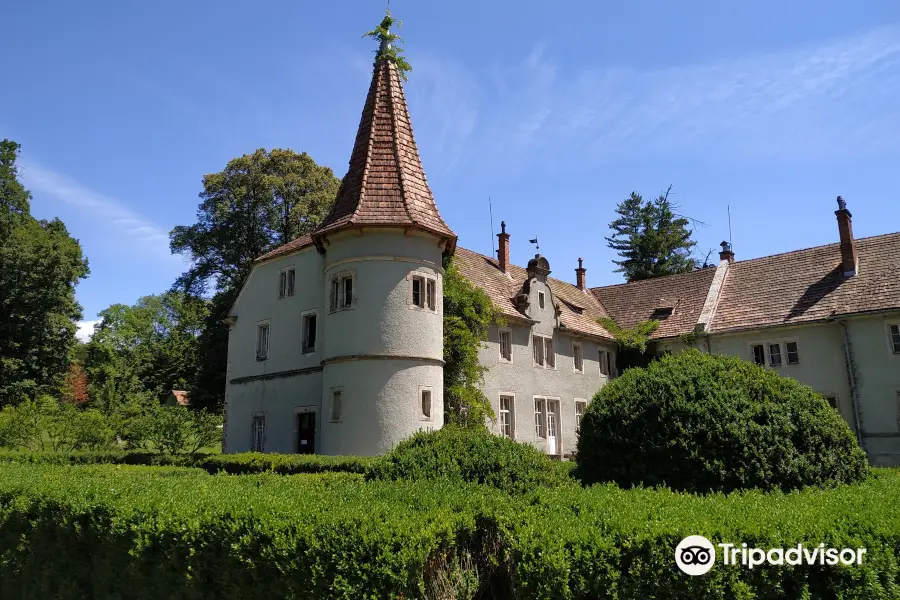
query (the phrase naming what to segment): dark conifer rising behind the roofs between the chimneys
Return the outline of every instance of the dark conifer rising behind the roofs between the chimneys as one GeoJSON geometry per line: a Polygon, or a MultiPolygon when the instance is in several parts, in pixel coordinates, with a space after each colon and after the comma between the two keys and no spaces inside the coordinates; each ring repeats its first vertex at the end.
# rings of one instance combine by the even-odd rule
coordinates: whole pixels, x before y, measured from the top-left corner
{"type": "Polygon", "coordinates": [[[691,258],[696,242],[688,229],[690,220],[675,214],[671,190],[669,186],[656,200],[647,201],[632,192],[616,206],[619,218],[609,224],[613,235],[606,241],[622,258],[613,262],[627,281],[687,273],[697,267],[691,258]]]}

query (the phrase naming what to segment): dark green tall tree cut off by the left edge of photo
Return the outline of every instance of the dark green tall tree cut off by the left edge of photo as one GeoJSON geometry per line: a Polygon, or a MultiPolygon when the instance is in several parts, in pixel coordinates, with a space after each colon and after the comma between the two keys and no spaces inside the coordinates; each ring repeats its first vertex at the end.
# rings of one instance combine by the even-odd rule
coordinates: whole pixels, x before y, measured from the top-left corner
{"type": "Polygon", "coordinates": [[[62,221],[31,216],[19,147],[0,142],[0,405],[59,389],[81,318],[75,286],[89,272],[62,221]]]}

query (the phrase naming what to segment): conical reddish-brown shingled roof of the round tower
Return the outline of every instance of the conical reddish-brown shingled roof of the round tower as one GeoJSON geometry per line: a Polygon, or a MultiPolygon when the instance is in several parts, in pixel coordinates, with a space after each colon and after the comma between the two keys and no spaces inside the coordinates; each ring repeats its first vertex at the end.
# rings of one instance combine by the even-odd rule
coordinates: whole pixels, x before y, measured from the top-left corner
{"type": "Polygon", "coordinates": [[[447,239],[453,252],[456,234],[438,212],[419,159],[400,74],[386,58],[375,62],[350,169],[331,212],[313,234],[348,227],[396,226],[421,229],[447,239]]]}

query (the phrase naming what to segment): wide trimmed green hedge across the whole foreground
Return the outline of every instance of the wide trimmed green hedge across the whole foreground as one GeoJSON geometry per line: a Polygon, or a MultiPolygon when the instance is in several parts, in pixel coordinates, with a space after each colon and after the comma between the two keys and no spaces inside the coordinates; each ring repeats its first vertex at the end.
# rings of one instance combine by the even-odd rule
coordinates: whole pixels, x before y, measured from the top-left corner
{"type": "Polygon", "coordinates": [[[441,481],[196,469],[0,468],[2,598],[900,597],[900,473],[800,493],[597,485],[510,496],[441,481]],[[687,535],[867,549],[861,566],[720,562],[687,535]]]}

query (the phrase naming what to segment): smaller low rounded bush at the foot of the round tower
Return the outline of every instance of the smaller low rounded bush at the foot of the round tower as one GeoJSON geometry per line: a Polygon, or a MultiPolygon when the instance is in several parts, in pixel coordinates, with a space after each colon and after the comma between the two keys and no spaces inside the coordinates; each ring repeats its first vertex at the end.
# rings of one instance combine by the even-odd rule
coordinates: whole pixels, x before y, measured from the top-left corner
{"type": "Polygon", "coordinates": [[[522,493],[569,481],[567,466],[486,429],[445,425],[397,444],[375,461],[367,479],[443,479],[522,493]]]}

